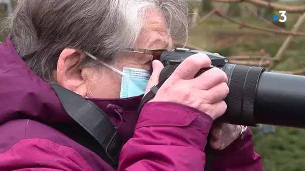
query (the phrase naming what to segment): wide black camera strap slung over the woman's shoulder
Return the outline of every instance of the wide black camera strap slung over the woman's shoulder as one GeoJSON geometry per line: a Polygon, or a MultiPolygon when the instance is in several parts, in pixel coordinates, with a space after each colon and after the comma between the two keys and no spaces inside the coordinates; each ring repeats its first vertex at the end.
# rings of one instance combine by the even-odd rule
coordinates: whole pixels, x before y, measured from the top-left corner
{"type": "Polygon", "coordinates": [[[67,125],[49,125],[99,155],[113,168],[117,168],[123,140],[107,114],[81,95],[55,83],[50,85],[68,115],[79,127],[70,129],[67,125]]]}

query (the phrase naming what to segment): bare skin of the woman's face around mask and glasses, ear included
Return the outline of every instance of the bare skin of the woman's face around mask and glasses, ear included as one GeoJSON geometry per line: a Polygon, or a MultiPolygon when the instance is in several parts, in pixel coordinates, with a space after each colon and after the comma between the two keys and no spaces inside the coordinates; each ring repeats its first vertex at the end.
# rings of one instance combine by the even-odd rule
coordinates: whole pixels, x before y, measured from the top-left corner
{"type": "MultiPolygon", "coordinates": [[[[160,11],[149,10],[146,22],[136,42],[139,48],[163,48],[171,50],[173,41],[168,32],[165,16],[160,11]]],[[[58,84],[90,98],[119,98],[121,75],[107,67],[77,68],[77,64],[87,57],[76,49],[66,48],[62,51],[54,71],[58,84]]],[[[150,70],[151,55],[126,52],[117,57],[115,66],[141,68],[150,70]]]]}

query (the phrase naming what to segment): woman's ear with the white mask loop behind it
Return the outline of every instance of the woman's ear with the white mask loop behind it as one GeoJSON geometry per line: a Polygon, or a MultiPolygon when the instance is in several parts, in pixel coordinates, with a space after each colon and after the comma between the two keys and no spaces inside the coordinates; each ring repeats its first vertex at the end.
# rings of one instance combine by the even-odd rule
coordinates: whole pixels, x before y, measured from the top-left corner
{"type": "Polygon", "coordinates": [[[74,49],[65,48],[59,55],[57,62],[57,83],[75,93],[85,96],[87,93],[84,73],[79,68],[86,54],[74,49]]]}

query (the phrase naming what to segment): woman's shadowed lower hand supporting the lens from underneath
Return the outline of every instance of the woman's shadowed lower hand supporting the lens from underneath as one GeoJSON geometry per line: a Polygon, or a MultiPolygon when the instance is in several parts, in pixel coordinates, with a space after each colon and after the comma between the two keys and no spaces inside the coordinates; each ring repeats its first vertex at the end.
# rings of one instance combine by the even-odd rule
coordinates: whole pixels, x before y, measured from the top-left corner
{"type": "Polygon", "coordinates": [[[240,125],[220,123],[212,126],[210,145],[213,149],[222,150],[240,137],[240,125]]]}

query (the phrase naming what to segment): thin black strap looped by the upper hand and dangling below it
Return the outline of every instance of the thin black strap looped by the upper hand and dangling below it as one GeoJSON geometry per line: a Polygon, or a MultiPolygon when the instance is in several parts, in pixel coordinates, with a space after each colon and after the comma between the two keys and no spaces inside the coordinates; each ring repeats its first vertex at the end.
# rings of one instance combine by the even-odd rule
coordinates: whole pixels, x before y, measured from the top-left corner
{"type": "MultiPolygon", "coordinates": [[[[167,65],[165,68],[163,68],[163,70],[160,73],[159,76],[159,84],[154,85],[153,87],[150,88],[150,91],[147,92],[147,94],[144,95],[144,97],[142,98],[139,108],[138,108],[138,116],[141,112],[141,109],[143,107],[143,105],[148,102],[150,99],[154,98],[155,95],[157,94],[159,88],[162,86],[162,84],[167,80],[167,78],[170,77],[170,75],[174,72],[175,67],[171,67],[171,65],[167,65]],[[168,67],[167,67],[168,66],[168,67]]],[[[207,137],[207,145],[205,147],[205,156],[206,156],[206,163],[205,163],[205,168],[204,171],[210,171],[212,168],[212,152],[213,149],[210,146],[209,142],[211,140],[211,133],[209,133],[208,137],[207,137]]]]}

